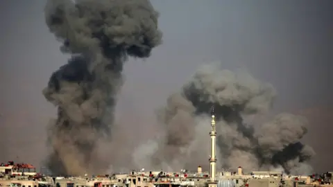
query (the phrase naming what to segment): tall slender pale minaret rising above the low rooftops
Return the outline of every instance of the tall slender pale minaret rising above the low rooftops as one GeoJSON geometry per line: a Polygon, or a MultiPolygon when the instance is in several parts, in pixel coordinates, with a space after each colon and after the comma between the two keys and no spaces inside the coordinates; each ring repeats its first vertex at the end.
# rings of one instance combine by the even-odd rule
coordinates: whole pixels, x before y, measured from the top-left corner
{"type": "Polygon", "coordinates": [[[217,181],[216,177],[216,130],[215,130],[215,116],[214,108],[212,112],[212,121],[210,123],[210,181],[208,182],[208,187],[216,187],[217,181]]]}

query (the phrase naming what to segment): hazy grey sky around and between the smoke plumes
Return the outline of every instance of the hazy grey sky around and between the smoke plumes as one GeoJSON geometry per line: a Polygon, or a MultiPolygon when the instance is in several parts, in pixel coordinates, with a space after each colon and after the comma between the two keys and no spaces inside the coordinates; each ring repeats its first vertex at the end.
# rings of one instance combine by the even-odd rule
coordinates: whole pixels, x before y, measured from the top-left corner
{"type": "MultiPolygon", "coordinates": [[[[126,125],[153,127],[148,123],[154,110],[198,65],[220,61],[225,69],[241,67],[271,82],[278,90],[274,112],[307,115],[305,141],[317,152],[314,168],[333,170],[330,160],[323,161],[333,157],[333,1],[152,3],[160,12],[164,43],[146,61],[126,62],[117,106],[126,125]]],[[[0,1],[0,161],[39,166],[46,154],[43,132],[56,111],[42,89],[67,57],[46,28],[43,8],[42,0],[0,1]]],[[[140,133],[151,136],[145,132],[140,133]]]]}

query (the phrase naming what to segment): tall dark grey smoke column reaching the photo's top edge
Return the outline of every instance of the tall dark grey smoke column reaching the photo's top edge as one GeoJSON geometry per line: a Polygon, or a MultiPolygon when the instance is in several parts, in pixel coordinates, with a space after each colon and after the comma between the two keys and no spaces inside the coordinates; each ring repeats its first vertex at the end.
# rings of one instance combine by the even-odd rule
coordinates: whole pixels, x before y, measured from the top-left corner
{"type": "Polygon", "coordinates": [[[161,43],[157,12],[148,0],[49,0],[45,16],[61,51],[71,54],[43,91],[58,107],[49,168],[62,175],[107,169],[98,145],[110,140],[123,62],[149,57],[161,43]]]}

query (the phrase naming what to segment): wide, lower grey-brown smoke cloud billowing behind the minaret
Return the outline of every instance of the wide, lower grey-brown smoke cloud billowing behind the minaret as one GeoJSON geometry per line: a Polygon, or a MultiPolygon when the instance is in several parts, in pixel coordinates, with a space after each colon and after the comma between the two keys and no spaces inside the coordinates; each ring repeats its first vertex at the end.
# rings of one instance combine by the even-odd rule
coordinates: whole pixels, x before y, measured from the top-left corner
{"type": "Polygon", "coordinates": [[[244,71],[204,65],[158,112],[165,134],[159,140],[159,149],[151,155],[151,167],[207,168],[210,116],[214,107],[218,168],[242,166],[248,171],[311,172],[307,161],[314,150],[300,143],[307,132],[305,118],[279,114],[258,124],[262,121],[259,116],[267,116],[274,98],[271,84],[260,82],[244,71]]]}

